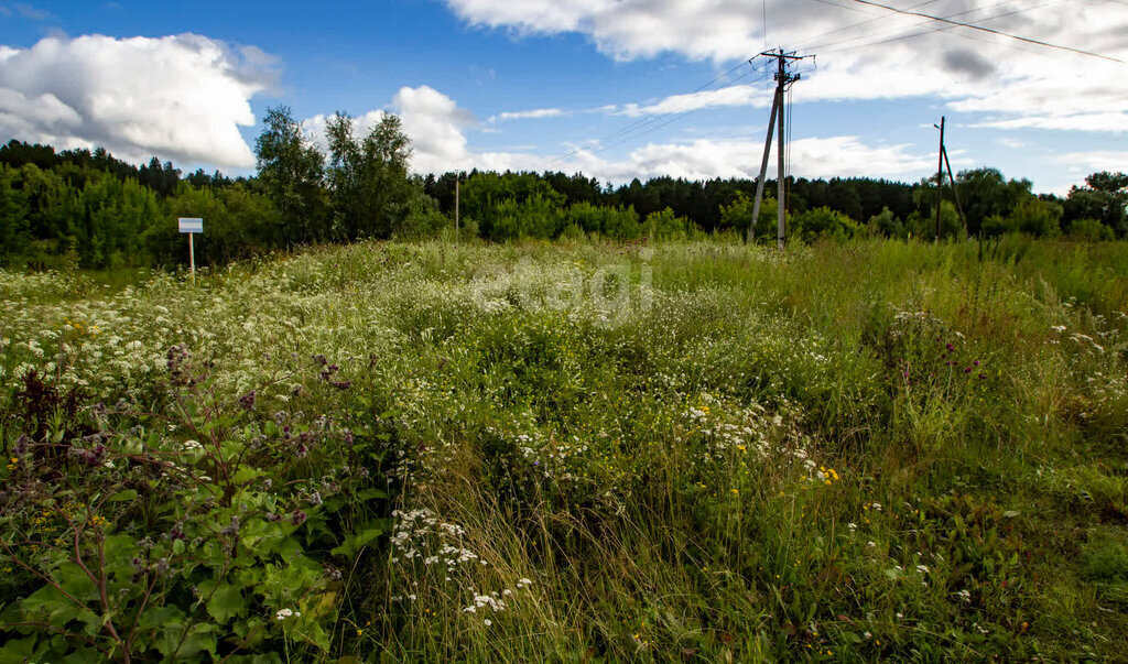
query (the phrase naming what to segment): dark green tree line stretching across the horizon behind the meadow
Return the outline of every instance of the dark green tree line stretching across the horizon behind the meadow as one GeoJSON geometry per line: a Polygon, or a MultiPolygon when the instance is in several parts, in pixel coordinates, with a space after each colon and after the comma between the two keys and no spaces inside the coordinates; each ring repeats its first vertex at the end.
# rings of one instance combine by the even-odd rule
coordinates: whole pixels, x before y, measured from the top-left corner
{"type": "MultiPolygon", "coordinates": [[[[461,233],[491,241],[599,236],[688,238],[705,233],[775,239],[778,202],[752,220],[755,180],[670,177],[618,187],[582,174],[409,172],[411,143],[385,114],[367,133],[346,113],[326,125],[324,147],[287,107],[268,109],[255,141],[257,174],[184,175],[153,157],[140,167],[104,149],[56,151],[11,140],[0,147],[0,265],[171,266],[187,259],[177,216],[202,216],[202,263],[316,242],[421,238],[450,232],[456,182],[461,233]]],[[[776,185],[768,182],[766,191],[776,185]]],[[[993,168],[958,175],[957,196],[940,198],[945,237],[1067,234],[1128,237],[1128,175],[1096,172],[1066,196],[1036,195],[1029,180],[993,168]],[[958,204],[957,204],[958,202],[958,204]]],[[[811,240],[855,236],[932,238],[935,180],[871,178],[785,183],[788,234],[811,240]]]]}

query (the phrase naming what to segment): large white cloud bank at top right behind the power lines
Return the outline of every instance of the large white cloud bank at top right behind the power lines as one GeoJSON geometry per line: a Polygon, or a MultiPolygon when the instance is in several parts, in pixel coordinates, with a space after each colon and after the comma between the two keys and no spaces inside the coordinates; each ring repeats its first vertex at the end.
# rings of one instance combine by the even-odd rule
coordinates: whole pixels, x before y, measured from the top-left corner
{"type": "MultiPolygon", "coordinates": [[[[681,54],[715,63],[765,43],[819,55],[796,101],[940,97],[951,109],[992,114],[997,129],[1123,131],[1125,68],[1004,37],[853,3],[767,0],[444,0],[474,26],[518,35],[576,33],[619,60],[681,54]],[[765,34],[766,33],[766,34],[765,34]]],[[[934,0],[926,11],[1128,60],[1128,5],[1043,0],[934,0]]],[[[731,95],[738,103],[742,89],[731,95]]],[[[681,96],[682,105],[722,97],[681,96]]],[[[723,105],[723,104],[717,104],[723,105]]]]}

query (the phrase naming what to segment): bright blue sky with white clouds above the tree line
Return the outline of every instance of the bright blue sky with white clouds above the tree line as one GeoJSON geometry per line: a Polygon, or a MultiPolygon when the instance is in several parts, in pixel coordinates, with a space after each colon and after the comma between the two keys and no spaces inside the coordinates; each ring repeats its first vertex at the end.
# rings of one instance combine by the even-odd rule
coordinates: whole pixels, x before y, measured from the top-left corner
{"type": "MultiPolygon", "coordinates": [[[[889,2],[1128,60],[1121,0],[889,2]]],[[[742,62],[765,45],[818,55],[795,175],[916,180],[941,115],[957,169],[1058,193],[1128,170],[1128,65],[855,0],[0,0],[0,139],[244,174],[284,104],[315,140],[338,109],[361,132],[397,113],[420,171],[749,176],[772,92],[742,62]]]]}

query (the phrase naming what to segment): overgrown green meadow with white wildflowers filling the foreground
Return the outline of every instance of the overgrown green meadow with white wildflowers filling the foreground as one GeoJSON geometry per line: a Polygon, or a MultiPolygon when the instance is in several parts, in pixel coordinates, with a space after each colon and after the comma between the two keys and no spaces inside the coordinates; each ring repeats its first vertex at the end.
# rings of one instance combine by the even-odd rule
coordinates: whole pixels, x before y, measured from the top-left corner
{"type": "Polygon", "coordinates": [[[1128,245],[0,272],[0,663],[1116,661],[1128,245]]]}

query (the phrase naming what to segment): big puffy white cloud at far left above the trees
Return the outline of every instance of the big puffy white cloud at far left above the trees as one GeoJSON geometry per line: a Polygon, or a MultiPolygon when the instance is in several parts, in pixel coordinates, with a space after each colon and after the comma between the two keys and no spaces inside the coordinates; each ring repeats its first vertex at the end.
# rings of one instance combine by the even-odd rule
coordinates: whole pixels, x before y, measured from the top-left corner
{"type": "Polygon", "coordinates": [[[0,46],[0,134],[59,148],[103,145],[143,161],[253,167],[239,133],[273,59],[200,35],[47,37],[0,46]]]}

